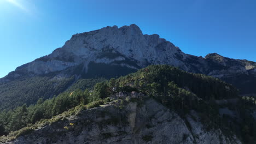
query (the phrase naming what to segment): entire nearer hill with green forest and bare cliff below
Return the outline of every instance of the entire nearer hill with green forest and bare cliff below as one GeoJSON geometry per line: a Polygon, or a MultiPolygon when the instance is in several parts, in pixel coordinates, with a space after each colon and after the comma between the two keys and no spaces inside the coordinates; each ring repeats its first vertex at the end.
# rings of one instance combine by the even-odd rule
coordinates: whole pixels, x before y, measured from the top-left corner
{"type": "Polygon", "coordinates": [[[229,83],[150,65],[91,92],[77,89],[0,113],[8,133],[0,143],[251,144],[256,125],[247,106],[229,83]]]}

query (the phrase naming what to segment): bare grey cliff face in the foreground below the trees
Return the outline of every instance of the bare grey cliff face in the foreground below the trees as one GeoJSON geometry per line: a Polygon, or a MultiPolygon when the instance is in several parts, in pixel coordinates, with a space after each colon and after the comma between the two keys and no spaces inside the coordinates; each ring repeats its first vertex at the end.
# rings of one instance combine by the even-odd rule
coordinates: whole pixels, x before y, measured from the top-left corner
{"type": "Polygon", "coordinates": [[[153,99],[120,101],[84,110],[7,143],[237,143],[221,130],[206,131],[196,112],[184,119],[153,99]],[[193,118],[191,118],[193,117],[193,118]],[[187,124],[185,123],[187,121],[187,124]],[[73,123],[73,125],[70,125],[73,123]],[[190,126],[188,126],[190,125],[190,126]],[[65,129],[63,127],[68,127],[65,129]]]}

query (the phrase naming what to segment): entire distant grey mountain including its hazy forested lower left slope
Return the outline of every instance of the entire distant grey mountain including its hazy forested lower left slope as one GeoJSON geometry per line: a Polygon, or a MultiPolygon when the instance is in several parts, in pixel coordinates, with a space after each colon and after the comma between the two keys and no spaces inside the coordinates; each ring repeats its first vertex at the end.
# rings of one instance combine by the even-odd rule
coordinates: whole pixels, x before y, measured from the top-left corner
{"type": "Polygon", "coordinates": [[[136,25],[113,26],[75,34],[50,55],[21,65],[0,79],[0,110],[52,98],[80,79],[117,77],[154,64],[220,78],[241,94],[256,93],[255,62],[217,53],[205,58],[188,55],[157,34],[143,34],[136,25]]]}

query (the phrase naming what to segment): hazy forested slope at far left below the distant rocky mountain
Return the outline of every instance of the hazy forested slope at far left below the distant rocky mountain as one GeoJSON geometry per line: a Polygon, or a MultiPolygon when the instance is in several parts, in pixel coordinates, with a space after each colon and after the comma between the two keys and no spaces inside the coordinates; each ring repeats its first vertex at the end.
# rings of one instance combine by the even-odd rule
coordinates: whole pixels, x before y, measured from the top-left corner
{"type": "Polygon", "coordinates": [[[11,110],[24,104],[35,104],[39,98],[53,98],[71,85],[74,76],[54,79],[53,76],[36,76],[16,79],[0,84],[0,111],[11,110]]]}

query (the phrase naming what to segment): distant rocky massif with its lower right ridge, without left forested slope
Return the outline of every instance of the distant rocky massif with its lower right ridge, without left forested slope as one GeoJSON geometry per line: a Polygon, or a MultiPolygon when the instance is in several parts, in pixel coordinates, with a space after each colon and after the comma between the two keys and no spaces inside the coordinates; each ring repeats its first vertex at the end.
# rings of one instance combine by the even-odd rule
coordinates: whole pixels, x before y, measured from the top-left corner
{"type": "Polygon", "coordinates": [[[48,56],[21,65],[0,79],[0,83],[19,79],[24,75],[52,73],[57,77],[77,75],[91,78],[107,75],[110,78],[126,75],[152,64],[168,64],[192,73],[211,75],[232,83],[242,93],[256,93],[249,87],[256,85],[255,62],[226,58],[217,53],[211,53],[205,58],[188,55],[157,34],[143,34],[136,25],[104,27],[75,34],[61,48],[48,56]],[[106,70],[110,66],[109,69],[117,71],[116,74],[108,75],[111,71],[106,70]]]}

